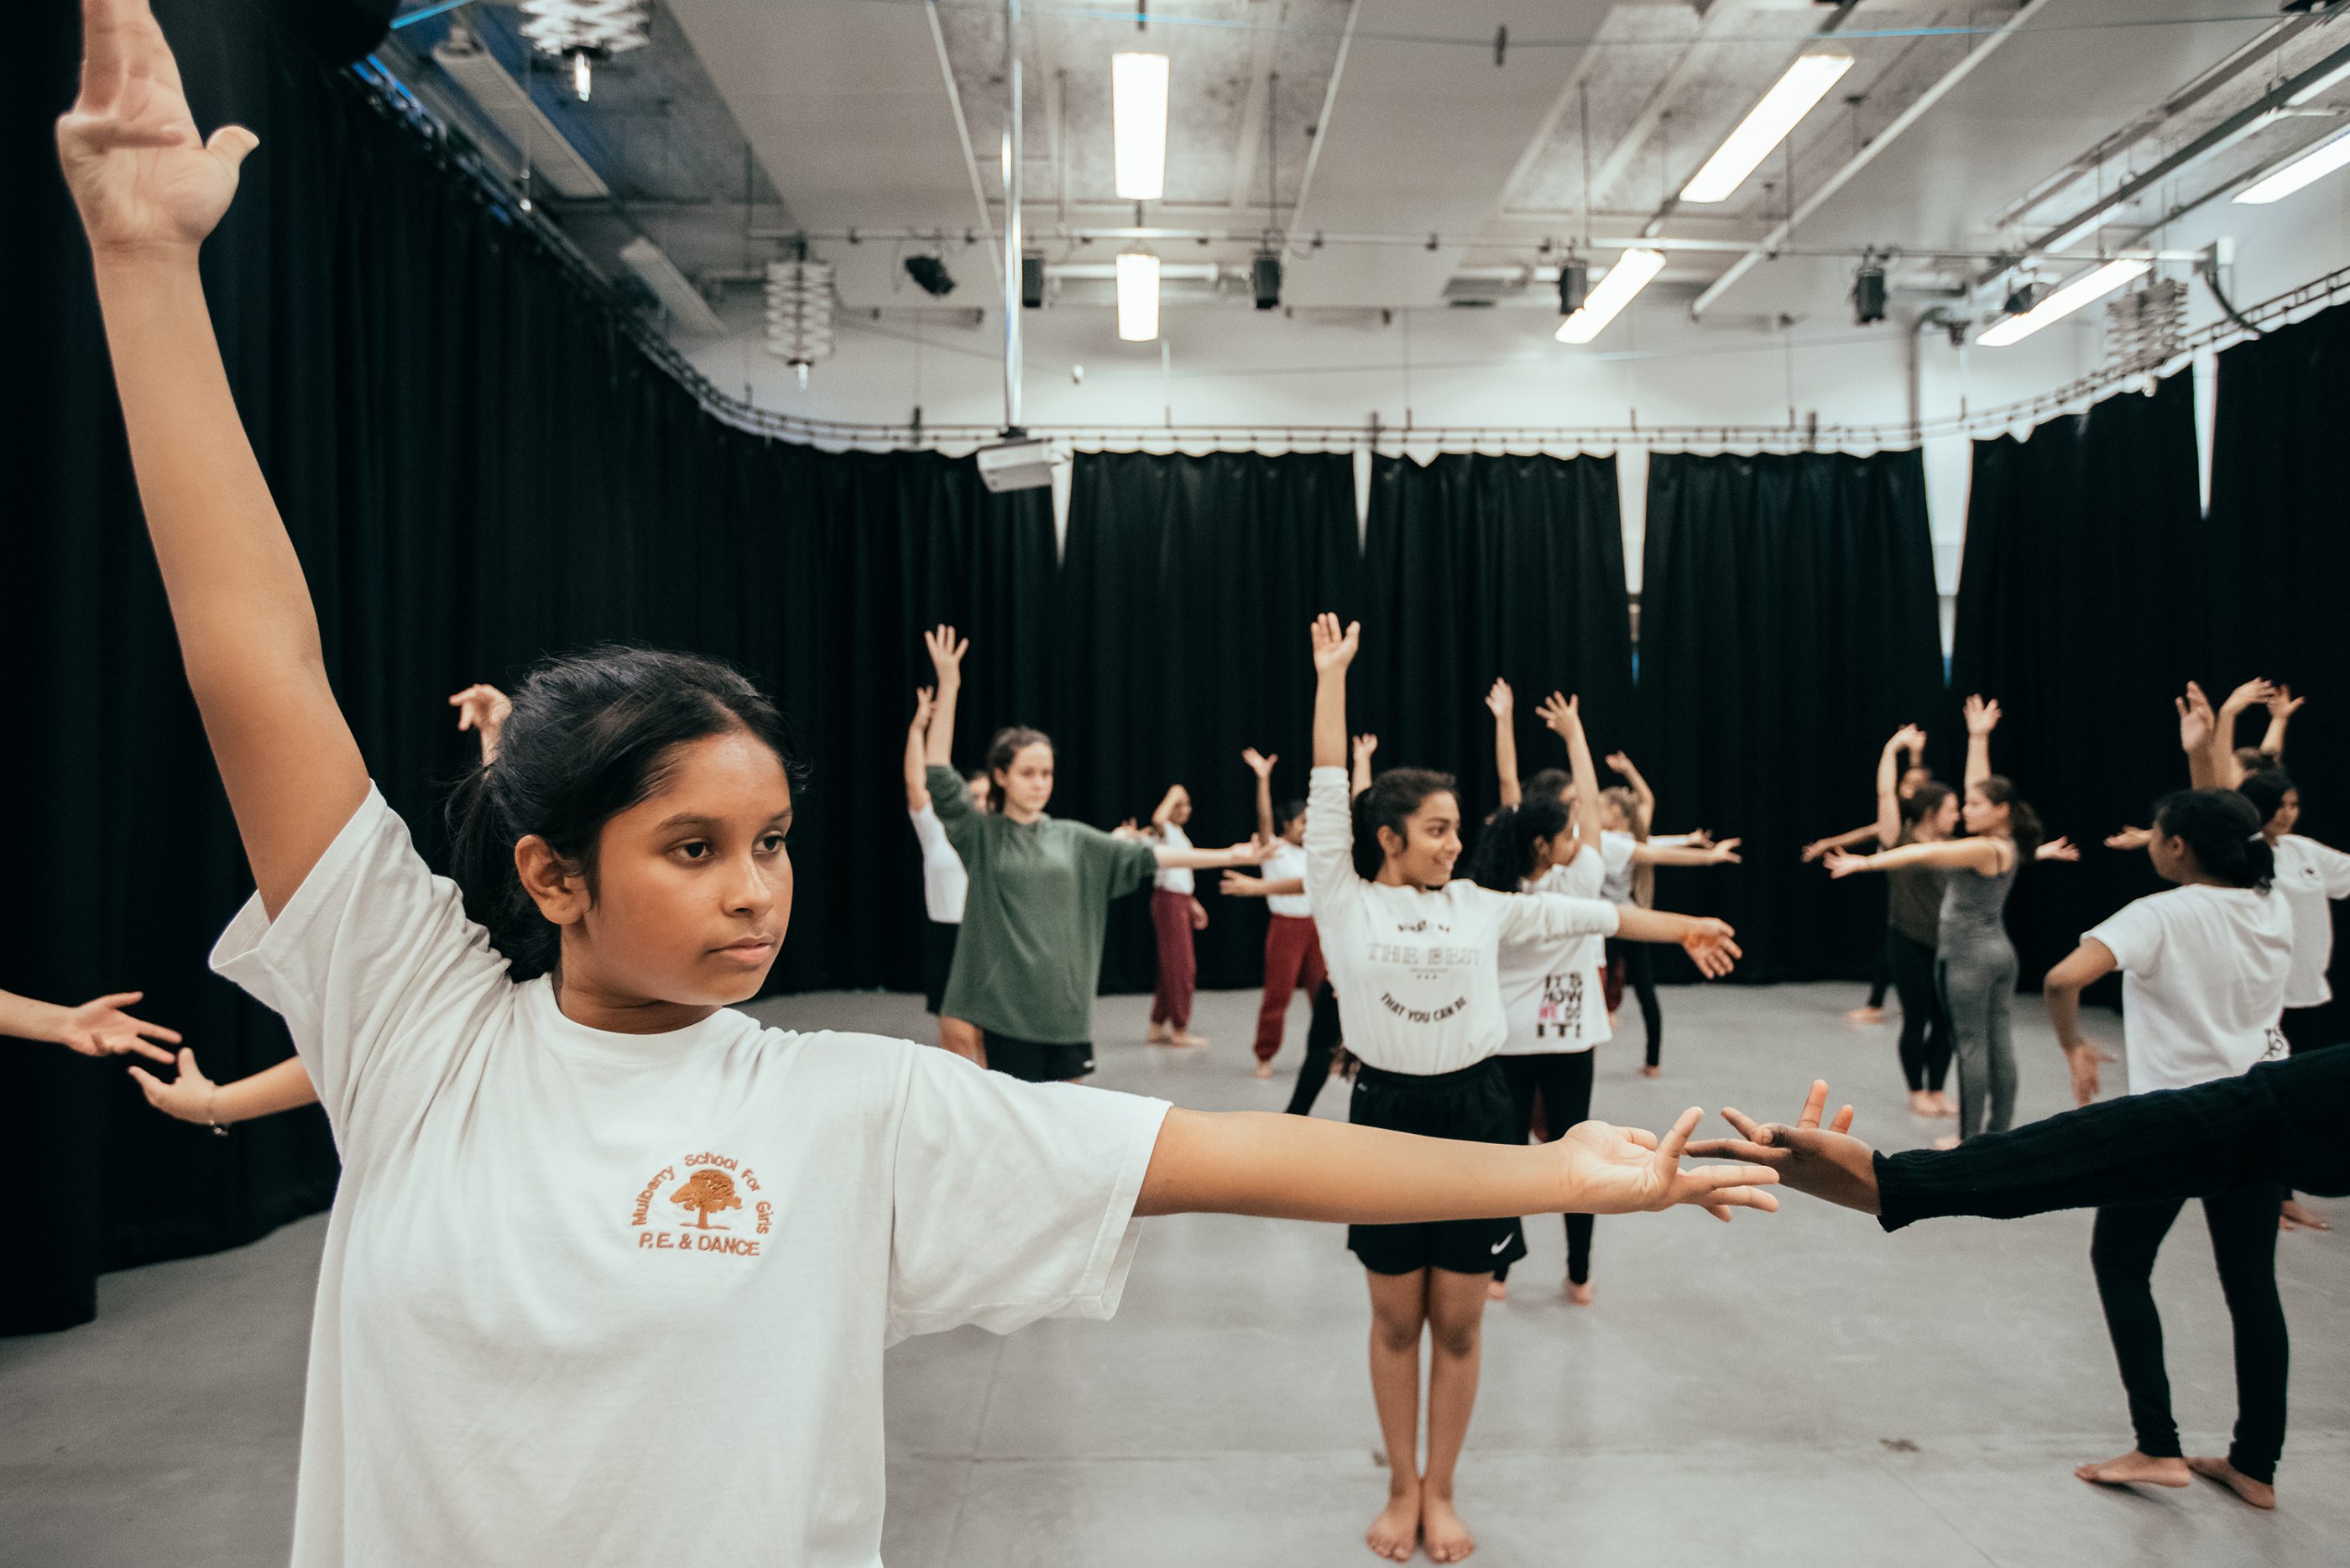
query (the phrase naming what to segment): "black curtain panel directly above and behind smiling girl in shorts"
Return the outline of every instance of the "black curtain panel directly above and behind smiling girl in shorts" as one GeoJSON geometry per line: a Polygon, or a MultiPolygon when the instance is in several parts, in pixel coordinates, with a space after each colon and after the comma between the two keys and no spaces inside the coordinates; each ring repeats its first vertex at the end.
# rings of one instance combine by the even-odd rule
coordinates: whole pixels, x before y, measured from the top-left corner
{"type": "MultiPolygon", "coordinates": [[[[1349,719],[1377,766],[1459,776],[1469,823],[1499,804],[1485,691],[1518,696],[1518,771],[1565,766],[1535,719],[1582,696],[1593,752],[1631,731],[1631,611],[1612,456],[1372,458],[1363,654],[1349,719]]],[[[1469,832],[1471,844],[1473,830],[1469,832]]]]}

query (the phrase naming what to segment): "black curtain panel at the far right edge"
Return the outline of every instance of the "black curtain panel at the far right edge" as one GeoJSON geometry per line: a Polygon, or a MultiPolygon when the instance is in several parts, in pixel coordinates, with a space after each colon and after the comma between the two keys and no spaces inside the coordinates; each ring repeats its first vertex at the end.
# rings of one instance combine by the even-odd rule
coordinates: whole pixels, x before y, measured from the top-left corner
{"type": "MultiPolygon", "coordinates": [[[[2343,407],[2350,308],[2221,353],[2207,559],[2218,567],[2211,672],[2221,684],[2265,675],[2310,698],[2284,745],[2284,766],[2301,788],[2296,832],[2350,849],[2350,442],[2324,433],[2343,407]]],[[[2254,719],[2263,717],[2247,717],[2242,745],[2261,743],[2254,719]]],[[[2334,905],[2334,924],[2341,952],[2350,940],[2343,905],[2334,905]]],[[[2334,1018],[2341,1039],[2341,1006],[2334,1018]]]]}

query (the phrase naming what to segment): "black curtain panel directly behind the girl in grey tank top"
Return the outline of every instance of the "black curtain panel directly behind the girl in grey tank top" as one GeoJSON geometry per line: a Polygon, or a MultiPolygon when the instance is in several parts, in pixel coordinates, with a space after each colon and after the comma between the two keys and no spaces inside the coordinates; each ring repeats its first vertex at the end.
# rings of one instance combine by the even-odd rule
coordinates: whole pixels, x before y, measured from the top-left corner
{"type": "Polygon", "coordinates": [[[1920,454],[1650,458],[1633,762],[1661,832],[1746,839],[1744,865],[1661,872],[1657,905],[1734,924],[1741,978],[1868,971],[1882,889],[1795,851],[1875,816],[1894,729],[1955,743],[1936,614],[1920,454]]]}

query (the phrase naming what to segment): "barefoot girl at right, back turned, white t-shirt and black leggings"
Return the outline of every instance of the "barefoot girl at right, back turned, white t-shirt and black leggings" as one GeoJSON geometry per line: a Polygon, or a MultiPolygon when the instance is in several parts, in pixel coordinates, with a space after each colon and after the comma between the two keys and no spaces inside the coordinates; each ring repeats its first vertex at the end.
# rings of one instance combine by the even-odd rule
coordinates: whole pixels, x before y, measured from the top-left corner
{"type": "MultiPolygon", "coordinates": [[[[2155,809],[2146,853],[2178,886],[2138,898],[2087,931],[2044,983],[2077,1105],[2096,1098],[2099,1065],[2110,1060],[2080,1034],[2080,992],[2113,971],[2122,971],[2129,1093],[2190,1088],[2284,1056],[2277,1011],[2294,964],[2294,917],[2270,886],[2275,860],[2251,802],[2235,790],[2181,790],[2155,809]]],[[[2167,1199],[2096,1211],[2089,1260],[2138,1441],[2117,1460],[2075,1474],[2113,1486],[2188,1486],[2202,1472],[2256,1507],[2275,1507],[2287,1363],[2277,1190],[2242,1187],[2202,1201],[2235,1321],[2237,1422],[2225,1460],[2181,1458],[2162,1366],[2155,1253],[2181,1206],[2167,1199]]]]}

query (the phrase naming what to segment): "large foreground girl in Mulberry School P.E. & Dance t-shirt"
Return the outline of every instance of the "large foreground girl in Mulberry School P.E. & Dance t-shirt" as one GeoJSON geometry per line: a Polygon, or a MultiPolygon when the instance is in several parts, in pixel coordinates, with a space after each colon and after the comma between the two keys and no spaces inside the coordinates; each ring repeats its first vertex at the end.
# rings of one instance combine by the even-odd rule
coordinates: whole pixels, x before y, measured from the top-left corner
{"type": "Polygon", "coordinates": [[[536,670],[458,788],[458,882],[374,790],[204,310],[256,139],[207,143],[143,0],[87,0],[56,127],[132,461],[256,896],[214,966],[277,1009],[343,1157],[294,1552],[324,1563],[872,1568],[881,1349],[1109,1316],[1135,1218],[1770,1208],[1598,1124],[1464,1152],[1029,1086],[768,1030],[794,764],[684,654],[536,670]],[[691,1450],[693,1486],[649,1455],[691,1450]]]}

